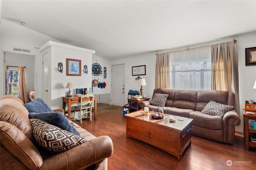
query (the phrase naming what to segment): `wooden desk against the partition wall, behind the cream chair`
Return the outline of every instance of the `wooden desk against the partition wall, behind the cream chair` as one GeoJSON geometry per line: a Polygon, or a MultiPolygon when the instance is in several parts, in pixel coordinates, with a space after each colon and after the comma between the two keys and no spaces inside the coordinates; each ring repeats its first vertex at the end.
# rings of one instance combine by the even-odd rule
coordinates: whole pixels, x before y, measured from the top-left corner
{"type": "MultiPolygon", "coordinates": [[[[62,109],[64,110],[64,113],[66,111],[66,103],[68,104],[68,119],[71,120],[71,104],[72,103],[80,103],[81,97],[74,96],[74,97],[62,97],[62,109]]],[[[83,98],[84,101],[88,101],[90,98],[83,98]]],[[[94,96],[94,120],[97,119],[97,96],[94,96]]]]}

